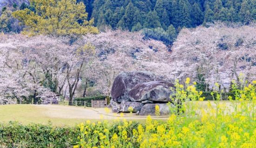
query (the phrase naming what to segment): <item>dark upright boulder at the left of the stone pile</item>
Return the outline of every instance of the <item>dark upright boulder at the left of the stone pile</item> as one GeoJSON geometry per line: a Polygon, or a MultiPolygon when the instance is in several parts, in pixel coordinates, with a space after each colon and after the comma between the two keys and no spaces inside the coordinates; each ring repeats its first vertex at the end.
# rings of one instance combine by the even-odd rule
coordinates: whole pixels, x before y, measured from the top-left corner
{"type": "Polygon", "coordinates": [[[114,80],[111,96],[115,102],[130,101],[129,91],[137,84],[157,80],[150,72],[121,72],[114,80]]]}

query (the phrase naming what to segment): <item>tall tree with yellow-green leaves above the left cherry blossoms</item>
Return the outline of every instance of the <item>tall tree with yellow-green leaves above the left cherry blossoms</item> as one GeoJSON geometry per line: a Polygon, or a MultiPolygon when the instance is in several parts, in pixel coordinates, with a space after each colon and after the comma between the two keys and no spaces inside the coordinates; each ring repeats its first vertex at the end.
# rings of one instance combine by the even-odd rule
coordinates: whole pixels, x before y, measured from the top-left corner
{"type": "Polygon", "coordinates": [[[26,25],[25,34],[53,37],[98,33],[94,19],[88,19],[83,3],[75,0],[31,0],[35,11],[28,8],[13,12],[13,17],[26,25]]]}

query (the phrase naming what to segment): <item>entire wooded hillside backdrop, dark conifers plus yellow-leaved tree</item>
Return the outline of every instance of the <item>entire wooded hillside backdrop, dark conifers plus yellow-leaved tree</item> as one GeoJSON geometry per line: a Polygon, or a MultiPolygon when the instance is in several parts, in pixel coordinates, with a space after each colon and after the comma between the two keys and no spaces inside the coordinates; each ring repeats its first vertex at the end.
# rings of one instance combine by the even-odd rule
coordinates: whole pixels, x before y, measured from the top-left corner
{"type": "MultiPolygon", "coordinates": [[[[67,34],[67,29],[71,29],[72,33],[84,32],[84,30],[81,30],[81,27],[75,31],[74,25],[92,24],[92,21],[94,21],[94,25],[100,31],[104,31],[106,27],[129,31],[143,30],[146,38],[160,40],[166,45],[172,45],[177,33],[183,27],[196,27],[215,21],[239,22],[248,25],[256,20],[255,0],[77,0],[77,6],[74,7],[70,7],[70,5],[59,0],[60,5],[62,3],[69,6],[68,8],[62,7],[61,9],[56,9],[59,4],[53,5],[51,8],[48,7],[50,9],[47,7],[41,8],[40,3],[43,1],[3,0],[0,12],[0,15],[3,15],[0,17],[0,23],[2,24],[0,31],[6,33],[22,31],[23,27],[18,25],[18,21],[10,15],[11,12],[20,10],[20,12],[14,13],[16,18],[19,18],[23,24],[30,26],[30,28],[33,24],[41,24],[39,25],[40,28],[36,27],[34,30],[47,31],[48,34],[56,34],[56,32],[58,34],[67,34]],[[84,3],[86,8],[81,6],[80,2],[84,3]],[[47,15],[41,13],[44,10],[54,9],[56,11],[48,11],[50,13],[47,15]],[[62,11],[64,9],[65,11],[62,11]],[[56,18],[60,14],[58,10],[67,14],[81,13],[87,15],[88,13],[85,17],[88,19],[88,22],[84,20],[85,18],[72,18],[73,15],[67,15],[69,18],[57,20],[56,18]],[[26,15],[27,18],[24,18],[25,16],[21,12],[24,14],[29,13],[29,15],[26,15]],[[39,18],[35,18],[33,13],[40,14],[35,15],[39,16],[39,18]],[[23,19],[20,18],[21,16],[23,19]],[[31,21],[32,16],[34,19],[31,21]],[[65,20],[75,24],[72,24],[73,27],[71,28],[70,25],[66,26],[66,30],[58,27],[54,29],[58,23],[61,24],[62,21],[63,24],[65,20]],[[16,25],[13,25],[13,21],[16,22],[16,25]],[[43,25],[47,25],[47,27],[43,25]]],[[[51,3],[51,0],[46,1],[48,4],[51,3]]],[[[75,2],[74,0],[71,1],[75,2]]],[[[68,34],[71,32],[69,31],[68,34]]]]}

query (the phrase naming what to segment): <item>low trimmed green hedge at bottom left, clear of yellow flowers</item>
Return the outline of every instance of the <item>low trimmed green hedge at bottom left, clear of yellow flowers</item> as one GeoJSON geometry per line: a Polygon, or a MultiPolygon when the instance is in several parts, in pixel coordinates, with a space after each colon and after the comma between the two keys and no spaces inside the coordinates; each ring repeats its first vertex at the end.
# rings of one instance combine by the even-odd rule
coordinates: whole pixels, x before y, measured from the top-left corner
{"type": "Polygon", "coordinates": [[[78,136],[78,127],[0,123],[0,148],[73,148],[78,136]]]}

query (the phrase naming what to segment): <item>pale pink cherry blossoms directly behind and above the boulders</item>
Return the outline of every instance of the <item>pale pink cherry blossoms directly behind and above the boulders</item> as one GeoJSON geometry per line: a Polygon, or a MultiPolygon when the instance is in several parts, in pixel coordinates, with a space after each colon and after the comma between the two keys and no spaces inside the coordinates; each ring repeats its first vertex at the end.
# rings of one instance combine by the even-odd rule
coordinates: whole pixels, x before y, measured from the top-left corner
{"type": "Polygon", "coordinates": [[[168,63],[167,47],[159,41],[144,40],[140,32],[106,30],[87,35],[84,41],[95,47],[97,58],[92,64],[95,74],[92,79],[96,81],[97,90],[106,96],[110,95],[113,81],[122,71],[147,70],[163,74],[168,69],[158,69],[162,63],[168,63]]]}

